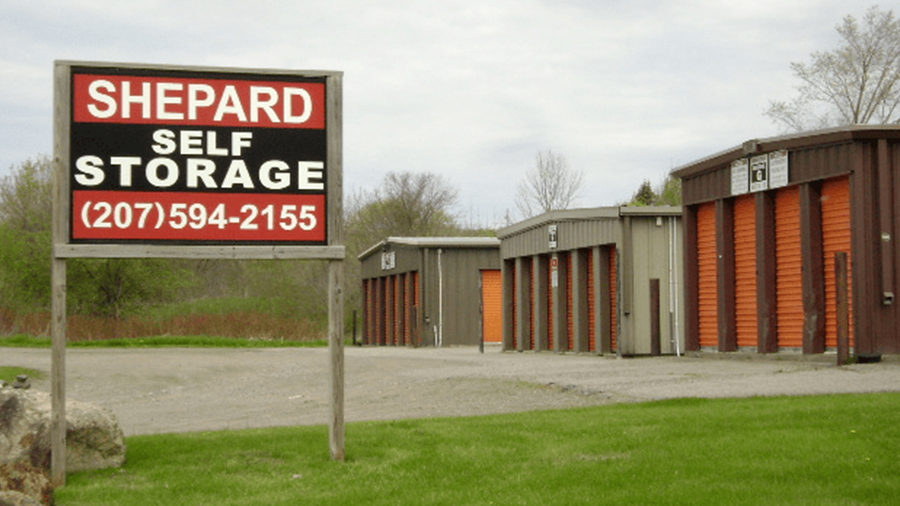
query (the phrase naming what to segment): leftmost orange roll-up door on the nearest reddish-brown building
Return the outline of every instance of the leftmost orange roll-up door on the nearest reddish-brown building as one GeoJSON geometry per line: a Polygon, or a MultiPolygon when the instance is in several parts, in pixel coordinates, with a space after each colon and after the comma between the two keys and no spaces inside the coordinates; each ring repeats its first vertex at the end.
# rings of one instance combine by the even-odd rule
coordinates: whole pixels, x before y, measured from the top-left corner
{"type": "Polygon", "coordinates": [[[719,345],[719,275],[716,250],[716,203],[697,207],[697,276],[700,346],[719,345]]]}

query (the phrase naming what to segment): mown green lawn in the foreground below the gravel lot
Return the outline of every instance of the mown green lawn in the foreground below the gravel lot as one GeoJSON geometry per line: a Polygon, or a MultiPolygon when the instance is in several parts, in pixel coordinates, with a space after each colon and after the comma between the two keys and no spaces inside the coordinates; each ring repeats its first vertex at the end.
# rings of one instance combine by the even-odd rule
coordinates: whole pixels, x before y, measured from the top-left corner
{"type": "Polygon", "coordinates": [[[74,505],[870,505],[900,501],[900,394],[685,399],[128,439],[74,505]]]}

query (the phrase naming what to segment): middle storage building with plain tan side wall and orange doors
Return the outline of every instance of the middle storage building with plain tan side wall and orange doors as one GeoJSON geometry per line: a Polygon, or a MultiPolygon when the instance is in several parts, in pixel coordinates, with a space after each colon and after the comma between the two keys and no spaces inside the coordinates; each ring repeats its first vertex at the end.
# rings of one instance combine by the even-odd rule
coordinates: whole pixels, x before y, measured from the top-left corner
{"type": "Polygon", "coordinates": [[[499,230],[503,348],[679,352],[680,222],[680,207],[605,207],[499,230]]]}

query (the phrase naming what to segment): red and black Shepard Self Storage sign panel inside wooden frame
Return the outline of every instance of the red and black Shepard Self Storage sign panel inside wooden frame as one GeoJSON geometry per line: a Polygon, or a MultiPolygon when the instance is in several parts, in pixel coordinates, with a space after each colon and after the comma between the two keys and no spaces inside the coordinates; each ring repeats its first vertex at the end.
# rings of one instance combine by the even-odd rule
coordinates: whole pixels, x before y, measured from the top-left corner
{"type": "Polygon", "coordinates": [[[73,67],[73,243],[327,244],[324,78],[73,67]]]}

